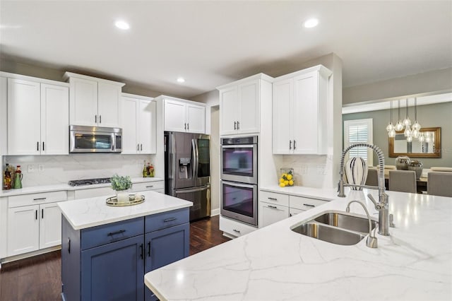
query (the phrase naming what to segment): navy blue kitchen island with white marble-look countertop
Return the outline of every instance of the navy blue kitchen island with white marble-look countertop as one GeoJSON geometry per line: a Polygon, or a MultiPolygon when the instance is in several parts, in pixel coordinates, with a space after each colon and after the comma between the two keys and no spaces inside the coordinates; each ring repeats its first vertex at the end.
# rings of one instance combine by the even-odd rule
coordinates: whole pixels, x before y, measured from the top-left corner
{"type": "Polygon", "coordinates": [[[189,255],[193,203],[141,191],[143,203],[107,206],[105,196],[58,203],[63,300],[155,300],[145,272],[189,255]]]}

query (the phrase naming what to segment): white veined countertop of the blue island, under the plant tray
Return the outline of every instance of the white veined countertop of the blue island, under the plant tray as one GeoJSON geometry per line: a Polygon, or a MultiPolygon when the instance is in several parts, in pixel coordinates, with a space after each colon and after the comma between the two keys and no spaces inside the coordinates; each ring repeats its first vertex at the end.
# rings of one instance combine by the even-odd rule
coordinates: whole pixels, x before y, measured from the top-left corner
{"type": "Polygon", "coordinates": [[[143,195],[145,201],[133,206],[107,206],[105,196],[62,201],[58,206],[75,230],[193,206],[191,201],[156,191],[140,191],[138,194],[143,195]]]}

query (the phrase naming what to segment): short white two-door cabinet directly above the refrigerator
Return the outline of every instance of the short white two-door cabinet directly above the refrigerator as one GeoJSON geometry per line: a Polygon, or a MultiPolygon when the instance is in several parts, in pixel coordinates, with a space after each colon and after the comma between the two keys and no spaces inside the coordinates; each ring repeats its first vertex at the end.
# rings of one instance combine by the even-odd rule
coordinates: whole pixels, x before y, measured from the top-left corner
{"type": "Polygon", "coordinates": [[[163,102],[164,131],[206,133],[206,105],[164,95],[156,99],[163,102]]]}

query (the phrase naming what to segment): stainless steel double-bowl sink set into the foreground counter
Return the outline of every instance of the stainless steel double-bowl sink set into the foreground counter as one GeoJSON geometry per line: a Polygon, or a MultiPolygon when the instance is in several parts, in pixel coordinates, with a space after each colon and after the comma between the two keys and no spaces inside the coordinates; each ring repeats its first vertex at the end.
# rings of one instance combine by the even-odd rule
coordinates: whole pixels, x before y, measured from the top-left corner
{"type": "MultiPolygon", "coordinates": [[[[371,220],[372,230],[375,227],[376,221],[371,220]]],[[[343,211],[328,211],[290,229],[324,242],[350,246],[369,234],[369,220],[343,211]]]]}

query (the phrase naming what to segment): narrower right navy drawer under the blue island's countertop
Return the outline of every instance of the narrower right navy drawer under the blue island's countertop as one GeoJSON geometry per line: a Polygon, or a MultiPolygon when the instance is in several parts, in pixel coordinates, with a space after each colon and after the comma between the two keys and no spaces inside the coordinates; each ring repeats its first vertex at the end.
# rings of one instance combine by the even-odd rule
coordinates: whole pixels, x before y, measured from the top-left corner
{"type": "Polygon", "coordinates": [[[145,232],[153,232],[169,228],[175,225],[189,223],[189,208],[182,208],[174,211],[162,212],[145,217],[145,232]]]}

